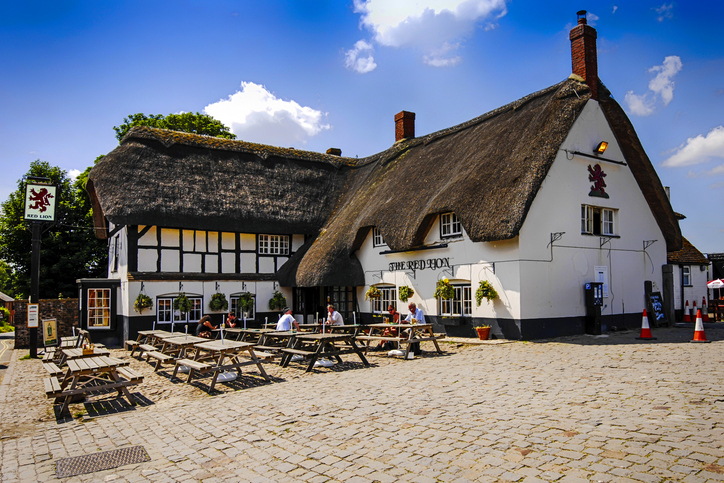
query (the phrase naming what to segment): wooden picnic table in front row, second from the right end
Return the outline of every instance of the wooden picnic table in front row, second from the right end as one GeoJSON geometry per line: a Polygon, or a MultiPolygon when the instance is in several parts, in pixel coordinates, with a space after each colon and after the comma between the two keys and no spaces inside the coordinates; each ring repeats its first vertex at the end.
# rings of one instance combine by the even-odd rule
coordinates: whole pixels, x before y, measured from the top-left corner
{"type": "Polygon", "coordinates": [[[336,334],[294,334],[289,347],[281,349],[282,360],[280,365],[287,367],[292,360],[292,356],[300,355],[305,359],[309,359],[309,365],[305,372],[314,369],[314,363],[322,357],[334,357],[337,362],[342,362],[339,357],[345,354],[357,354],[365,367],[369,367],[362,350],[355,342],[354,334],[336,333],[336,334]]]}

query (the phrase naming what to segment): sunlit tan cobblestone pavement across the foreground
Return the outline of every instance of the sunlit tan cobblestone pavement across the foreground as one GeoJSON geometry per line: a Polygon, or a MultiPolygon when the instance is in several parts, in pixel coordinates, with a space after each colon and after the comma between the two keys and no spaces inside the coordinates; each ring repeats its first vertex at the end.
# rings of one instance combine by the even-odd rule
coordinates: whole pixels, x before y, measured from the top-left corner
{"type": "Polygon", "coordinates": [[[693,329],[636,335],[268,366],[274,382],[249,375],[212,396],[133,361],[141,407],[76,404],[102,415],[68,420],[40,362],[16,350],[0,383],[0,480],[55,480],[60,458],[143,445],[147,463],[63,481],[724,481],[724,330],[707,330],[710,344],[689,343],[693,329]]]}

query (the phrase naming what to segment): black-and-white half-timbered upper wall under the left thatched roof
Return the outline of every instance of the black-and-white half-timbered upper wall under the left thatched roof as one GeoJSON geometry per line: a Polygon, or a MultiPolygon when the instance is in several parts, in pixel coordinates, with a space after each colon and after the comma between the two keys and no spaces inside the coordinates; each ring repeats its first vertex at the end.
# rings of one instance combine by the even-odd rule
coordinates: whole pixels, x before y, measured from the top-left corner
{"type": "Polygon", "coordinates": [[[128,227],[130,272],[273,274],[304,235],[128,227]]]}

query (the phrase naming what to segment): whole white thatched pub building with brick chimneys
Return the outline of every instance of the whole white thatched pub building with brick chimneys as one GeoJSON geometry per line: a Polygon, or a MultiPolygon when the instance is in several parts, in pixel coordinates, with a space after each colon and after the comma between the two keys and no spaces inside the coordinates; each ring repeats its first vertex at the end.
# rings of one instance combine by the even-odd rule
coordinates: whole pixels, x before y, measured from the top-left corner
{"type": "MultiPolygon", "coordinates": [[[[87,185],[107,279],[79,281],[82,326],[120,344],[184,330],[224,294],[249,326],[275,322],[280,291],[300,322],[327,303],[345,323],[409,302],[436,332],[537,339],[582,334],[584,286],[602,283],[601,326],[640,327],[662,290],[678,220],[621,106],[598,78],[585,12],[570,33],[573,73],[480,117],[356,159],[148,127],[98,161],[87,185]],[[404,186],[405,189],[400,189],[404,186]],[[434,297],[447,279],[454,298],[434,297]],[[478,304],[487,282],[497,292],[478,304]],[[380,298],[366,300],[371,287],[380,298]],[[399,300],[400,287],[414,295],[399,300]],[[139,294],[152,307],[134,310],[139,294]],[[174,301],[184,294],[191,310],[174,301]]],[[[191,327],[189,327],[191,330],[191,327]]]]}

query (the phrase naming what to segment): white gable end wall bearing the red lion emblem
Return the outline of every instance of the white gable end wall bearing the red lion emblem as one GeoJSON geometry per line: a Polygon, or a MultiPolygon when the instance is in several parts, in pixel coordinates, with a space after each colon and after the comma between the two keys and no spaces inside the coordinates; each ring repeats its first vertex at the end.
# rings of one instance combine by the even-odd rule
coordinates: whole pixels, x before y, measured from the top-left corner
{"type": "Polygon", "coordinates": [[[520,232],[522,318],[585,315],[584,284],[596,281],[594,267],[605,266],[609,296],[603,315],[643,311],[644,281],[662,290],[661,266],[666,241],[628,166],[573,155],[593,154],[600,141],[609,143],[601,156],[625,161],[596,101],[588,101],[562,144],[533,201],[520,232]],[[568,150],[566,153],[564,150],[568,150]],[[606,173],[609,198],[589,196],[588,166],[606,173]],[[581,205],[617,210],[618,238],[601,246],[598,235],[581,233],[581,205]],[[553,243],[551,233],[565,232],[553,243]],[[644,253],[644,240],[656,240],[644,253]],[[552,262],[547,262],[552,257],[552,262]],[[535,260],[535,261],[533,261],[535,260]]]}

